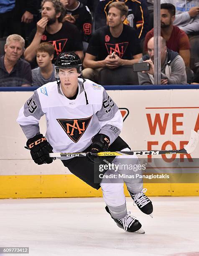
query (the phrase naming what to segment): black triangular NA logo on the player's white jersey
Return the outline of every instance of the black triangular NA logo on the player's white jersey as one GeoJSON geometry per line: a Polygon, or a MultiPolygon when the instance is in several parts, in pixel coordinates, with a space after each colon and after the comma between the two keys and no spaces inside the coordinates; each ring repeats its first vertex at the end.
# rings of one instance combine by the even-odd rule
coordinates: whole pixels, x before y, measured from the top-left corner
{"type": "Polygon", "coordinates": [[[81,119],[56,119],[69,138],[77,143],[86,131],[92,116],[81,119]]]}

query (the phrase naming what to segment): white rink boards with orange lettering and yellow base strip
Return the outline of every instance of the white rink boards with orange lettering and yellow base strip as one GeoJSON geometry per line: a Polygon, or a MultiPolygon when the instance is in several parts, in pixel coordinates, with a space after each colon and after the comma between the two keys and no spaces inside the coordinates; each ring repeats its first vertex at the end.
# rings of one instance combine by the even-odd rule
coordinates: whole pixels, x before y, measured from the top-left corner
{"type": "MultiPolygon", "coordinates": [[[[61,161],[37,166],[31,160],[29,151],[24,148],[26,137],[15,120],[32,93],[0,92],[0,198],[102,196],[101,189],[89,187],[61,161]]],[[[121,137],[132,150],[179,149],[189,141],[191,129],[199,130],[198,89],[109,90],[108,94],[120,108],[124,119],[121,137]]],[[[45,134],[45,118],[41,119],[40,127],[45,134]]],[[[199,146],[188,157],[196,159],[198,156],[199,146]]],[[[175,158],[174,155],[163,156],[161,162],[172,161],[171,157],[175,158]]],[[[187,160],[187,156],[182,155],[179,161],[183,159],[187,160]]],[[[189,166],[186,166],[188,179],[184,183],[179,182],[178,172],[171,183],[146,181],[147,195],[199,195],[199,177],[195,176],[195,183],[188,182],[189,172],[197,174],[199,167],[189,169],[189,166]]],[[[128,195],[126,188],[125,193],[128,195]]]]}

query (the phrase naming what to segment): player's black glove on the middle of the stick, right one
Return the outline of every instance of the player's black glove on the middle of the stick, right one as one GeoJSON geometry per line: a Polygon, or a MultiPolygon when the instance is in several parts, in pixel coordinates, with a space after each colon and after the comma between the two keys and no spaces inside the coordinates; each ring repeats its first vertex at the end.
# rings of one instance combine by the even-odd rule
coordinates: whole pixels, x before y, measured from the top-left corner
{"type": "Polygon", "coordinates": [[[97,153],[101,151],[107,151],[110,143],[110,138],[102,133],[97,133],[93,139],[91,144],[91,150],[87,154],[87,157],[90,161],[94,162],[96,159],[97,153]]]}

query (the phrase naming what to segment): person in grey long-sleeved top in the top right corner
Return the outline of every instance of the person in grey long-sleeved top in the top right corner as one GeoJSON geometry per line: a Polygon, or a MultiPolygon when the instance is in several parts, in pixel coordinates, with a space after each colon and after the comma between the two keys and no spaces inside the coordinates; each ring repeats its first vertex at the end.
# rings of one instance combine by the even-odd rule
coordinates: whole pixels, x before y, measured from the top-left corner
{"type": "Polygon", "coordinates": [[[173,25],[186,34],[199,32],[199,0],[161,0],[161,3],[171,3],[176,7],[173,25]]]}

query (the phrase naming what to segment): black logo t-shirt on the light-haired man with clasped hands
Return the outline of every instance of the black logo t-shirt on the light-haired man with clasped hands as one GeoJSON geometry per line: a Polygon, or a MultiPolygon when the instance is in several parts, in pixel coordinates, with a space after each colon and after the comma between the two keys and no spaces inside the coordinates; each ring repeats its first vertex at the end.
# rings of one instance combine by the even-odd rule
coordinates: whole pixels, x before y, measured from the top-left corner
{"type": "Polygon", "coordinates": [[[113,37],[109,26],[99,28],[89,41],[87,53],[97,56],[97,60],[104,60],[107,55],[115,51],[121,59],[133,59],[136,54],[142,53],[138,35],[134,28],[123,25],[119,37],[113,37]]]}

